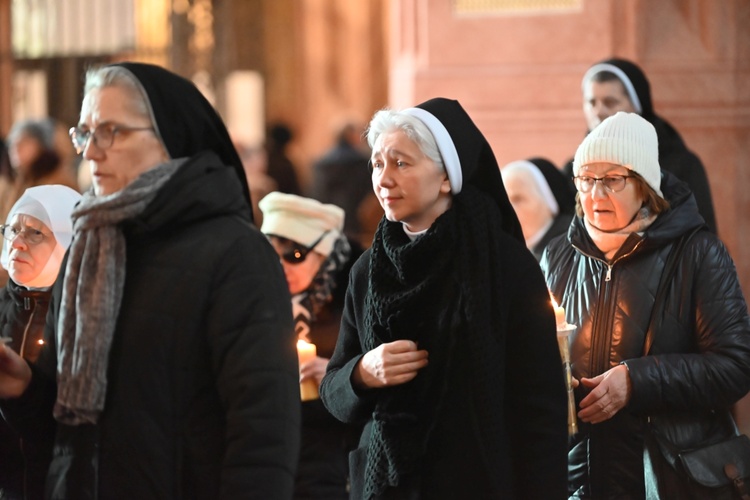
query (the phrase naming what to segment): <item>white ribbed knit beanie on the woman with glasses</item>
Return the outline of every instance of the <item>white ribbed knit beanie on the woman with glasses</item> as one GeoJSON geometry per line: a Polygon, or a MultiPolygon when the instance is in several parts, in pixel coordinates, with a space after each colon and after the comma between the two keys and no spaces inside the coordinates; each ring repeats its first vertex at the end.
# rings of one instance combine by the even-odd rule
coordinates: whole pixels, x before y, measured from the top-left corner
{"type": "Polygon", "coordinates": [[[664,198],[656,129],[640,115],[619,111],[589,132],[576,151],[573,175],[592,163],[622,165],[643,177],[664,198]]]}

